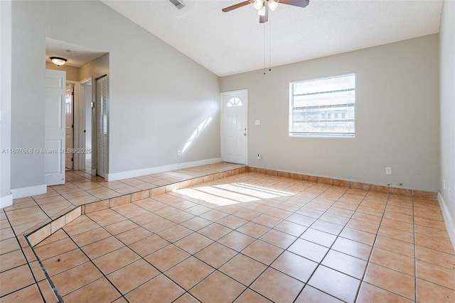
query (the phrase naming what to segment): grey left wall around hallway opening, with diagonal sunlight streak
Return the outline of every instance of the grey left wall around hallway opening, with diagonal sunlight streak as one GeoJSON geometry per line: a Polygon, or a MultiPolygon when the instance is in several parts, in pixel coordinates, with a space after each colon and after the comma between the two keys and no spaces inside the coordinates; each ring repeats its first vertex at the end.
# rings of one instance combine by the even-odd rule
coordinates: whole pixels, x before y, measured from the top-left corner
{"type": "MultiPolygon", "coordinates": [[[[100,1],[13,1],[12,15],[11,147],[44,147],[48,37],[109,53],[109,173],[220,158],[212,72],[100,1]],[[209,116],[212,123],[177,157],[209,116]]],[[[43,155],[11,157],[11,187],[43,183],[43,155]]]]}

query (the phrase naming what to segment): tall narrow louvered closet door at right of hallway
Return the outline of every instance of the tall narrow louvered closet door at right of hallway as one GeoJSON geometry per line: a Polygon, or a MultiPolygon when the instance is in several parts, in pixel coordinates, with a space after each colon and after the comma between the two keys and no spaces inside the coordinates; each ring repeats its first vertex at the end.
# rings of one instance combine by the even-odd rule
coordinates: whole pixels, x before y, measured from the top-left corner
{"type": "Polygon", "coordinates": [[[107,177],[107,76],[97,79],[97,175],[107,177]]]}

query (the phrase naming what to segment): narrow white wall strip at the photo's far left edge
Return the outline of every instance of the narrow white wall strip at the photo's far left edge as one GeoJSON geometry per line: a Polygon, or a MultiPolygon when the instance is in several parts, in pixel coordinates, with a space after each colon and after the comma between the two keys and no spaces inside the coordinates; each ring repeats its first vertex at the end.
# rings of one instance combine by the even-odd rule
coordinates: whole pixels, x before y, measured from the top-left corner
{"type": "Polygon", "coordinates": [[[11,1],[0,1],[0,209],[12,204],[11,154],[11,1]]]}

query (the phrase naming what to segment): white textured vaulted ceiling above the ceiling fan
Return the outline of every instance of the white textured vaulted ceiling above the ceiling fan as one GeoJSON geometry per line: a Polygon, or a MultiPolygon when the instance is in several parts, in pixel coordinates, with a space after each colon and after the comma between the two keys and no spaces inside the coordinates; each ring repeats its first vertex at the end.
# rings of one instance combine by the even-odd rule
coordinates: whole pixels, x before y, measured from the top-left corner
{"type": "Polygon", "coordinates": [[[262,24],[252,4],[221,11],[242,1],[102,0],[219,76],[262,69],[264,57],[277,66],[438,33],[443,2],[310,0],[279,4],[262,24]]]}

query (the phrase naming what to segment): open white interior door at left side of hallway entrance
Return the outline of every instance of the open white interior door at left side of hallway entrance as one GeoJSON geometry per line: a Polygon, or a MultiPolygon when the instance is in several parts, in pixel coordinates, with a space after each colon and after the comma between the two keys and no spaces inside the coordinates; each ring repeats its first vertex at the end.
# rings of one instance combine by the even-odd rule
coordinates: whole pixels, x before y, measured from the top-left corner
{"type": "Polygon", "coordinates": [[[66,72],[45,70],[44,180],[65,184],[65,82],[66,72]]]}

